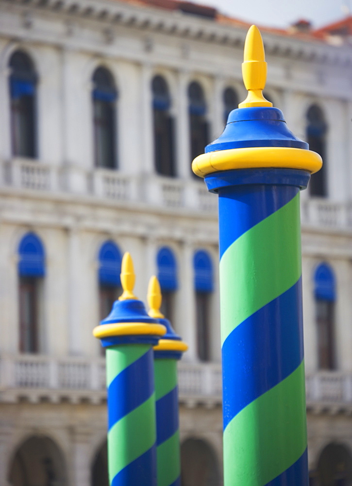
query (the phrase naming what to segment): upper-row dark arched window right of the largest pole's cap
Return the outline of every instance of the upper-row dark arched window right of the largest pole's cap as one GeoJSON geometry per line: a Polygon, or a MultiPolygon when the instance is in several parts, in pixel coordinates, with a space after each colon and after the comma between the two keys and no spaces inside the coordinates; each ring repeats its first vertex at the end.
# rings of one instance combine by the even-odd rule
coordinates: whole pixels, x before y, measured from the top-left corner
{"type": "Polygon", "coordinates": [[[327,123],[324,113],[317,104],[312,104],[307,111],[306,139],[309,149],[317,152],[323,159],[323,166],[316,174],[312,174],[309,190],[312,196],[327,196],[326,180],[326,133],[327,123]]]}

